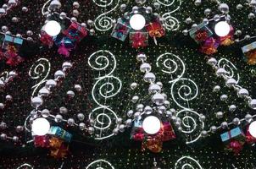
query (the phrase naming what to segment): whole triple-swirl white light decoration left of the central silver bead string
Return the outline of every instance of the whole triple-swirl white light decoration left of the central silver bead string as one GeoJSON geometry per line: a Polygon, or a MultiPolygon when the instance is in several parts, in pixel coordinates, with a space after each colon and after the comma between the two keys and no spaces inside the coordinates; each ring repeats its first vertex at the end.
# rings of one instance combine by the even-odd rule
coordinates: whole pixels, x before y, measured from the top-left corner
{"type": "Polygon", "coordinates": [[[107,101],[120,93],[122,82],[112,75],[116,68],[113,53],[104,50],[93,52],[88,59],[88,64],[99,73],[96,78],[97,81],[92,87],[92,99],[97,107],[89,115],[89,119],[96,120],[94,139],[107,139],[114,135],[109,131],[113,131],[114,128],[118,128],[120,125],[116,123],[118,116],[107,105],[107,101]]]}

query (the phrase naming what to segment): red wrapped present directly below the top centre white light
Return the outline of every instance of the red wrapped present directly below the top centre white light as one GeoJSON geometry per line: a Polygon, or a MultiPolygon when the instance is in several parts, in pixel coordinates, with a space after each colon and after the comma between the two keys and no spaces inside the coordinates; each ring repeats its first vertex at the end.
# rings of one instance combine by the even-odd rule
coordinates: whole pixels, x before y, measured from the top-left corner
{"type": "Polygon", "coordinates": [[[134,48],[145,47],[148,45],[148,33],[147,32],[130,32],[130,43],[134,48]]]}

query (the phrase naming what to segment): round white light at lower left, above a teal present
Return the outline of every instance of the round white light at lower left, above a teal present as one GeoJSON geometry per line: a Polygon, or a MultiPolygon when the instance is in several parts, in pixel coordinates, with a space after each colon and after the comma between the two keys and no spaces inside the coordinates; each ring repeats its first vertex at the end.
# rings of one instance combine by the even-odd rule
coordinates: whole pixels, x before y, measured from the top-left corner
{"type": "Polygon", "coordinates": [[[50,123],[45,118],[36,118],[32,123],[32,132],[35,135],[45,135],[50,129],[50,123]]]}

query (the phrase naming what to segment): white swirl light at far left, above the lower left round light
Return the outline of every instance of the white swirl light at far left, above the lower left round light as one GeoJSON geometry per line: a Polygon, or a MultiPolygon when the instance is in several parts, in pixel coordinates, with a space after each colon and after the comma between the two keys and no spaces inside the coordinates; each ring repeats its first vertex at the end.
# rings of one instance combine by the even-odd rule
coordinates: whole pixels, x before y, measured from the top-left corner
{"type": "Polygon", "coordinates": [[[47,58],[39,58],[36,60],[29,71],[29,76],[31,79],[36,79],[36,85],[33,85],[31,89],[33,90],[31,97],[36,94],[36,90],[47,81],[47,77],[51,71],[51,63],[47,58]]]}

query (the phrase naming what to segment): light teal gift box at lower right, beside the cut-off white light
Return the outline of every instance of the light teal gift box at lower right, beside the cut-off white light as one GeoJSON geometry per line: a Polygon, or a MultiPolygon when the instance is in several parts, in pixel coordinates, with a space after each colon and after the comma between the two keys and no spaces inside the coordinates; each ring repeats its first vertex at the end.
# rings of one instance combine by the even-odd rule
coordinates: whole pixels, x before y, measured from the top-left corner
{"type": "Polygon", "coordinates": [[[220,134],[222,142],[229,142],[231,139],[244,139],[242,129],[237,127],[233,128],[224,134],[220,134]]]}

